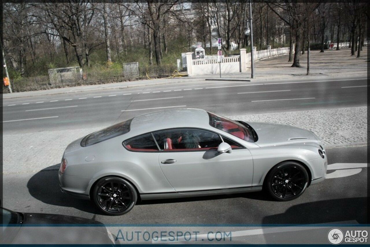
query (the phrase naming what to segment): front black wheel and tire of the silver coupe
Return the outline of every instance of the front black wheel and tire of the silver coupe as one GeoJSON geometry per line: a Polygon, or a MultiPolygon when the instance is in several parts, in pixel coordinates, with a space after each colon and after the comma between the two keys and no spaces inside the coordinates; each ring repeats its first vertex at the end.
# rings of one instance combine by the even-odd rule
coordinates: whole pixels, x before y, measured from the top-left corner
{"type": "Polygon", "coordinates": [[[297,162],[282,162],[271,169],[265,179],[265,189],[277,201],[298,198],[308,185],[306,169],[297,162]]]}

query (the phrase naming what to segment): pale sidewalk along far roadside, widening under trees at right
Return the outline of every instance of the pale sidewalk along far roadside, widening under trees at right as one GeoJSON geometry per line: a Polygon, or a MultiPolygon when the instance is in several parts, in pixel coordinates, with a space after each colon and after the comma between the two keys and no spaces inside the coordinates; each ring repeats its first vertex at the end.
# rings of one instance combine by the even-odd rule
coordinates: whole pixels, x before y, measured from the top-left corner
{"type": "Polygon", "coordinates": [[[363,47],[361,57],[350,56],[349,48],[339,51],[325,50],[320,53],[315,50],[310,53],[310,75],[307,73],[307,52],[300,57],[301,68],[290,67],[293,62],[287,62],[289,56],[282,55],[255,62],[251,77],[250,69],[245,73],[220,75],[202,75],[192,77],[161,78],[152,80],[138,80],[132,82],[117,82],[102,85],[85,85],[70,88],[57,88],[49,90],[5,93],[3,99],[13,99],[41,95],[57,95],[75,92],[88,92],[94,90],[127,89],[144,86],[167,85],[172,83],[196,82],[200,80],[246,80],[251,82],[274,81],[282,79],[316,79],[316,78],[353,78],[367,76],[367,47],[363,47]]]}

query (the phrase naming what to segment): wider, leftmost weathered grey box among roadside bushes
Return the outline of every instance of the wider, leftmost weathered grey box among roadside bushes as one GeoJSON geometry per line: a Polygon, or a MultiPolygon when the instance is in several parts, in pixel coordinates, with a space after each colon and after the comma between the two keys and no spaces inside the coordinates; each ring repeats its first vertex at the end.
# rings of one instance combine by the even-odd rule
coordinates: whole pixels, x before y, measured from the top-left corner
{"type": "Polygon", "coordinates": [[[51,85],[74,83],[82,80],[82,68],[78,66],[49,69],[48,72],[51,85]]]}

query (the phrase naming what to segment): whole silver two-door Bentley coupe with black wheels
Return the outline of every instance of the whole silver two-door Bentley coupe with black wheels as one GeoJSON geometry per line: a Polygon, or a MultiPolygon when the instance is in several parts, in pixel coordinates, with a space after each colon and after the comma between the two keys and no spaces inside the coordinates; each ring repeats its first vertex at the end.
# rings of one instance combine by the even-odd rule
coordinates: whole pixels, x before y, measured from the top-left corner
{"type": "Polygon", "coordinates": [[[61,190],[90,198],[108,215],[138,199],[260,191],[293,200],[326,177],[327,158],[311,131],[245,123],[201,109],[136,116],[72,142],[61,190]]]}

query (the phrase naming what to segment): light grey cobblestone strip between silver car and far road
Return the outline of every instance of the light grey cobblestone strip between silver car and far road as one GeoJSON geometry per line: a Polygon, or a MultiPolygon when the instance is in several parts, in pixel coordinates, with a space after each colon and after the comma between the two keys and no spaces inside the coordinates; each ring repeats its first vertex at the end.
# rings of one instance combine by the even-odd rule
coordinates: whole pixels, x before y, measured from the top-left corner
{"type": "MultiPolygon", "coordinates": [[[[367,107],[230,116],[246,122],[284,123],[315,132],[325,148],[367,145],[367,107]]],[[[3,135],[3,174],[59,168],[66,146],[104,128],[3,135]]]]}

